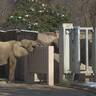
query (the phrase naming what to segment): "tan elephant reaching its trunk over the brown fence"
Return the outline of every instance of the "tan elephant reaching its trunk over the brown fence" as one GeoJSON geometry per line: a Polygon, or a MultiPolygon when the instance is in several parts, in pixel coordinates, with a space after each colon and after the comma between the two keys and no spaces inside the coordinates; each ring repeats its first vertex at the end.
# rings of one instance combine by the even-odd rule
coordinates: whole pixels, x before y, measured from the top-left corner
{"type": "Polygon", "coordinates": [[[0,65],[8,64],[9,66],[8,82],[14,81],[16,59],[28,55],[38,45],[36,41],[27,39],[21,41],[0,41],[0,65]]]}

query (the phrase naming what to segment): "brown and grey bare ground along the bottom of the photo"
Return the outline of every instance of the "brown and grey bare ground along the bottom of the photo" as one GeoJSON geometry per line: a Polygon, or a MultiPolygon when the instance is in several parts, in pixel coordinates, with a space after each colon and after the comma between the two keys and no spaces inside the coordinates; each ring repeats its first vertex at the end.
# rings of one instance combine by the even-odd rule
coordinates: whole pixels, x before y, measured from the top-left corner
{"type": "Polygon", "coordinates": [[[0,96],[96,96],[96,94],[65,87],[38,84],[0,84],[0,96]]]}

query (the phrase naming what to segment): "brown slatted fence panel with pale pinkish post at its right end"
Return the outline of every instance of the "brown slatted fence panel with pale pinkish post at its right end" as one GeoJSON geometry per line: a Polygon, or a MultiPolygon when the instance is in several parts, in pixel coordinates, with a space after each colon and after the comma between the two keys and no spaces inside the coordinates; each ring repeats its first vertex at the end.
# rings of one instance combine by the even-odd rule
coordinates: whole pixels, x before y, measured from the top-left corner
{"type": "Polygon", "coordinates": [[[22,58],[22,68],[24,73],[24,81],[35,82],[34,74],[39,76],[46,76],[47,84],[50,86],[54,85],[54,47],[38,47],[34,49],[27,57],[22,58]]]}

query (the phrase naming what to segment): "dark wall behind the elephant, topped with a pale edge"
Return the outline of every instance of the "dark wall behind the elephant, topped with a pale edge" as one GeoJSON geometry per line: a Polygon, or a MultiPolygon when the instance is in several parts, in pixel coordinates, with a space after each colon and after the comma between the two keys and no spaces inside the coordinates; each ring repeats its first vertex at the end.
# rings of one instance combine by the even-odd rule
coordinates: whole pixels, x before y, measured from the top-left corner
{"type": "MultiPolygon", "coordinates": [[[[38,32],[37,31],[30,31],[30,30],[19,30],[19,29],[12,29],[12,30],[0,30],[0,41],[10,41],[10,40],[22,40],[22,39],[32,39],[32,40],[36,40],[38,36],[38,32]]],[[[18,65],[19,67],[23,67],[21,66],[22,60],[18,60],[18,65]]],[[[17,66],[17,70],[16,73],[18,74],[22,74],[23,72],[20,73],[20,68],[17,66]]],[[[23,68],[21,68],[23,71],[23,68]]],[[[19,78],[19,74],[18,76],[16,75],[16,78],[19,78]]],[[[4,66],[0,66],[0,78],[8,78],[8,66],[4,65],[4,66]]],[[[23,76],[22,78],[23,79],[23,76]]]]}

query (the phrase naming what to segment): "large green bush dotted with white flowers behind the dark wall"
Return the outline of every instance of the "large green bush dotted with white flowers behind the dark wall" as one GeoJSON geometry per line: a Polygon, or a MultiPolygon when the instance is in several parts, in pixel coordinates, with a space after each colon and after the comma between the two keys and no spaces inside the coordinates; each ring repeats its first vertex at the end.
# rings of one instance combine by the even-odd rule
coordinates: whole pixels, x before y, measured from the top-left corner
{"type": "Polygon", "coordinates": [[[51,4],[49,0],[18,0],[6,27],[56,31],[62,23],[70,22],[70,16],[64,6],[51,4]]]}

